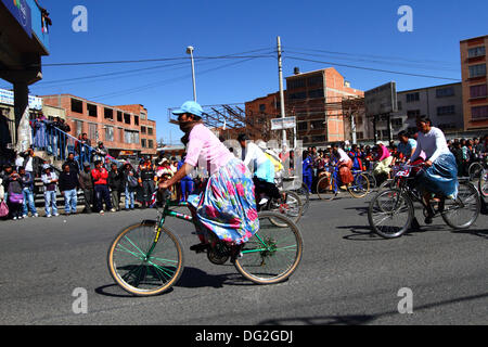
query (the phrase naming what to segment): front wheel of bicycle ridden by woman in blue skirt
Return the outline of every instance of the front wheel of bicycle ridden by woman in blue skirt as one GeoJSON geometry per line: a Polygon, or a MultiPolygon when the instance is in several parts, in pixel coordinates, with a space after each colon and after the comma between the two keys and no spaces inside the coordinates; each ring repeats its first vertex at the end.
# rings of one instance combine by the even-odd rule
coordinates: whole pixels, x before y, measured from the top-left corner
{"type": "Polygon", "coordinates": [[[371,228],[384,239],[401,236],[410,228],[413,217],[412,201],[397,189],[377,193],[368,209],[371,228]]]}

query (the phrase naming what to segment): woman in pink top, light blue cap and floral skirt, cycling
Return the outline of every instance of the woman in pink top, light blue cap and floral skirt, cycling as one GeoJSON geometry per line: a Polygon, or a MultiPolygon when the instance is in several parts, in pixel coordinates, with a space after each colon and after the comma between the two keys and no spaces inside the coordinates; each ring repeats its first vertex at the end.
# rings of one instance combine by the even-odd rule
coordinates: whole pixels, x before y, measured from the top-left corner
{"type": "Polygon", "coordinates": [[[230,246],[242,245],[259,230],[249,170],[204,126],[200,104],[188,101],[172,114],[178,115],[180,129],[184,132],[181,141],[187,145],[187,157],[175,176],[159,182],[158,188],[166,190],[179,182],[198,163],[204,163],[209,171],[205,190],[188,198],[201,240],[201,244],[190,249],[206,249],[216,236],[230,246]]]}

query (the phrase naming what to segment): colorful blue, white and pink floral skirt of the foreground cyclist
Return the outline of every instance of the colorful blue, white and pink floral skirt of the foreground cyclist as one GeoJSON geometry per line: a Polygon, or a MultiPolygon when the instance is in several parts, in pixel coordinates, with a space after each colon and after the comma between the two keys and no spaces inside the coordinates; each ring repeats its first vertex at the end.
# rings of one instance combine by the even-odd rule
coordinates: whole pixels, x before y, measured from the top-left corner
{"type": "Polygon", "coordinates": [[[259,230],[252,175],[237,158],[214,172],[200,195],[188,198],[202,241],[245,243],[259,230]]]}

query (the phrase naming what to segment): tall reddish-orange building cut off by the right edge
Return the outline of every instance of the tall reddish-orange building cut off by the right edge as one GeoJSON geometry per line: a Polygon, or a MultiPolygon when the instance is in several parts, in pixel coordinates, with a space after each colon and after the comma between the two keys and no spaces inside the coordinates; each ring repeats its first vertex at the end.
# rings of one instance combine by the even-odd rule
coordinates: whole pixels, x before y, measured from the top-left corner
{"type": "Polygon", "coordinates": [[[460,42],[464,130],[488,129],[488,35],[460,42]]]}

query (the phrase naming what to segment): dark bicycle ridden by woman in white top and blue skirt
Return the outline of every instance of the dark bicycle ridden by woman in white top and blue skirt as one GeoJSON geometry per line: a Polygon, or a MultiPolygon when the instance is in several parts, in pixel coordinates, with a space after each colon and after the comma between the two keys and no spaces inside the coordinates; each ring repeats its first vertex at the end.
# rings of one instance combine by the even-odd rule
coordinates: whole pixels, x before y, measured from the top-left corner
{"type": "Polygon", "coordinates": [[[440,197],[427,206],[414,188],[410,171],[415,166],[404,166],[396,176],[396,187],[380,191],[370,202],[368,220],[373,231],[382,237],[401,236],[410,229],[414,218],[413,203],[420,203],[424,215],[434,210],[453,229],[467,229],[477,219],[481,201],[477,189],[467,180],[460,180],[455,200],[440,197]]]}

